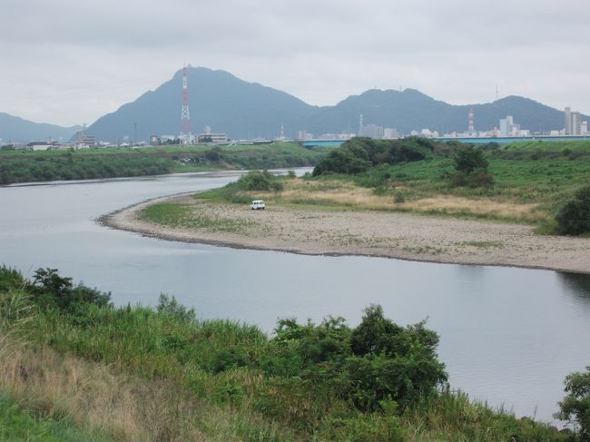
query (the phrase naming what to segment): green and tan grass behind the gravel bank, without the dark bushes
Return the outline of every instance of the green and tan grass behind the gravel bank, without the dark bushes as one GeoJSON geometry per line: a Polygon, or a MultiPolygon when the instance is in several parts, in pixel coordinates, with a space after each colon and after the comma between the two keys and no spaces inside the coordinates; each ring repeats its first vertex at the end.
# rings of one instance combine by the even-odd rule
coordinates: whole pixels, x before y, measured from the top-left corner
{"type": "Polygon", "coordinates": [[[280,192],[238,183],[195,197],[239,203],[260,198],[322,210],[406,211],[534,224],[550,231],[560,204],[590,176],[590,142],[519,142],[487,146],[491,185],[457,186],[448,178],[456,148],[433,144],[423,160],[287,180],[280,192]]]}

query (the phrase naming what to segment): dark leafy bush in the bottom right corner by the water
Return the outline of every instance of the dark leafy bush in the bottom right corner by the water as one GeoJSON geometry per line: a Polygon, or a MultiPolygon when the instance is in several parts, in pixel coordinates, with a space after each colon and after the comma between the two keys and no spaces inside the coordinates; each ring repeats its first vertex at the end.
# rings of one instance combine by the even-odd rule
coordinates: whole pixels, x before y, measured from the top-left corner
{"type": "Polygon", "coordinates": [[[575,372],[565,377],[568,395],[559,402],[557,419],[566,420],[578,427],[578,440],[590,441],[590,366],[585,373],[575,372]]]}

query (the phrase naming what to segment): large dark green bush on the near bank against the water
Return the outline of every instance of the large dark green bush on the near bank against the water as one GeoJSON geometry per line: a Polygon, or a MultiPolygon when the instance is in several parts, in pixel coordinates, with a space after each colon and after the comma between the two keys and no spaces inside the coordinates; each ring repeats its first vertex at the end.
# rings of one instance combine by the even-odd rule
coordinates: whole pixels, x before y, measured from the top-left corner
{"type": "Polygon", "coordinates": [[[380,306],[365,309],[356,329],[342,318],[318,326],[282,319],[275,331],[276,349],[261,364],[267,373],[302,378],[363,411],[380,409],[386,399],[407,407],[447,380],[437,334],[423,322],[400,327],[384,318],[380,306]]]}

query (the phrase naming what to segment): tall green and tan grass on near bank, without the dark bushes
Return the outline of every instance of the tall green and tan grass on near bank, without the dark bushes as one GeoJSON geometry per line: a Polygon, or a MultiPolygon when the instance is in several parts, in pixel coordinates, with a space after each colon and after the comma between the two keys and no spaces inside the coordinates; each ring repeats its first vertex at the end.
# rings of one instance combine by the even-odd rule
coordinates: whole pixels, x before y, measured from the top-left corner
{"type": "MultiPolygon", "coordinates": [[[[0,283],[9,277],[0,269],[0,283]]],[[[378,411],[362,411],[339,394],[342,380],[329,373],[270,374],[265,367],[280,360],[287,363],[281,369],[296,369],[297,361],[289,362],[298,349],[291,339],[279,344],[251,325],[195,319],[173,298],[162,297],[157,309],[40,309],[20,300],[24,308],[0,310],[3,331],[26,336],[4,340],[11,357],[1,359],[0,393],[36,419],[82,428],[90,435],[84,440],[496,442],[512,434],[521,442],[564,439],[546,425],[448,390],[405,409],[386,399],[378,411]],[[328,383],[319,382],[324,377],[328,383]]],[[[322,337],[329,329],[317,331],[322,337]]],[[[333,345],[310,340],[298,351],[330,351],[333,345]]]]}

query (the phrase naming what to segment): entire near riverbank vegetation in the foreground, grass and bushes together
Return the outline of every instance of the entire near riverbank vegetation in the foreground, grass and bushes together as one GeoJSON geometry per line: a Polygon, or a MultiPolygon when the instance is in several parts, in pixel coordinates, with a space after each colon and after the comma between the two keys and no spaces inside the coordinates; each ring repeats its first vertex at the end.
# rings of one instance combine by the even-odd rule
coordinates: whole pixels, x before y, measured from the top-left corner
{"type": "Polygon", "coordinates": [[[30,416],[10,440],[54,421],[105,437],[84,440],[565,440],[449,391],[436,333],[375,306],[355,328],[283,319],[269,337],[168,297],[114,308],[52,270],[1,268],[0,329],[0,397],[30,416]]]}

